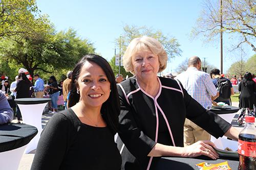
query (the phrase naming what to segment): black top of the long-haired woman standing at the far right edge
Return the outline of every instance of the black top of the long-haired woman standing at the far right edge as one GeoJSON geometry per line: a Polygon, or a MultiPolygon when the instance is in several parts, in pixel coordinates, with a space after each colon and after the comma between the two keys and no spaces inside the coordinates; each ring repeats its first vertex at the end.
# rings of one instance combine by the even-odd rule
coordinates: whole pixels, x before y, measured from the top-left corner
{"type": "Polygon", "coordinates": [[[247,81],[246,86],[244,82],[240,82],[238,85],[238,90],[241,91],[239,107],[253,109],[253,104],[255,102],[254,92],[256,92],[256,85],[254,81],[247,81]]]}

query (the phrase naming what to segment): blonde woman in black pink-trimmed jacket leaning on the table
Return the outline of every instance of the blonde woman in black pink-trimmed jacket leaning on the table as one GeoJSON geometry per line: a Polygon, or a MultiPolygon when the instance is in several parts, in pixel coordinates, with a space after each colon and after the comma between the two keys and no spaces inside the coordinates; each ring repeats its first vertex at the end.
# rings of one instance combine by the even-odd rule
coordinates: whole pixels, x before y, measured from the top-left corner
{"type": "Polygon", "coordinates": [[[135,76],[118,84],[122,169],[154,169],[161,156],[217,159],[211,141],[183,147],[185,118],[216,138],[238,139],[238,131],[191,98],[179,81],[157,76],[166,63],[163,46],[151,37],[135,38],[124,53],[124,68],[135,76]]]}

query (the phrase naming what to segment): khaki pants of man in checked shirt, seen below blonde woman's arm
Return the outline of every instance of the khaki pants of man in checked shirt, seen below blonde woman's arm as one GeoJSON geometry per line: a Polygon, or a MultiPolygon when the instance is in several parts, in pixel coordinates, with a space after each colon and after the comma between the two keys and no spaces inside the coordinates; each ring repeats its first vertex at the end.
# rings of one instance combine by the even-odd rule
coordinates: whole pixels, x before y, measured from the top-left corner
{"type": "Polygon", "coordinates": [[[186,118],[184,124],[184,147],[199,140],[210,140],[210,134],[186,118]]]}

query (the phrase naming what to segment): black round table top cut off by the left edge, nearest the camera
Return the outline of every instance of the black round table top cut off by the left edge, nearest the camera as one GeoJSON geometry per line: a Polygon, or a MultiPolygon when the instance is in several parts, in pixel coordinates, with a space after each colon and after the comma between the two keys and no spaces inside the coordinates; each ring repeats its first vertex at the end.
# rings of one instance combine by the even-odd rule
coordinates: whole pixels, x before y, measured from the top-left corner
{"type": "Polygon", "coordinates": [[[14,150],[28,144],[37,134],[36,127],[26,124],[0,125],[0,152],[14,150]]]}

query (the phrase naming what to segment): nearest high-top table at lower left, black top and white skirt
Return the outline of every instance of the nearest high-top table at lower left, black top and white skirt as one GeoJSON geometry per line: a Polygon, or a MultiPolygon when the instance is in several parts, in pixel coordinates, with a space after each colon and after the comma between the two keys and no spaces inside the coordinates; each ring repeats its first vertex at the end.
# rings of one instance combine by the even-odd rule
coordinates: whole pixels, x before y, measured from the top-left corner
{"type": "Polygon", "coordinates": [[[36,127],[30,125],[0,125],[0,169],[17,170],[27,144],[36,134],[36,127]]]}

